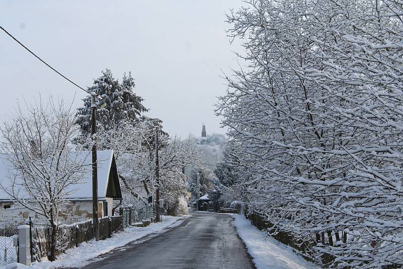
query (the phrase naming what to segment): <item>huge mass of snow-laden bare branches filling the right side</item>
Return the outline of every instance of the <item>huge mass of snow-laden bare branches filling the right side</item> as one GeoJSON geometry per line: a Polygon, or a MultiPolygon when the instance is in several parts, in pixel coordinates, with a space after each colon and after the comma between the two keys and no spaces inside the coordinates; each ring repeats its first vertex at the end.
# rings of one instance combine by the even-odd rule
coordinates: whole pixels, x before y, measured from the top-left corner
{"type": "MultiPolygon", "coordinates": [[[[403,6],[254,0],[220,97],[249,207],[333,267],[403,265],[403,6]]],[[[234,161],[236,160],[236,161],[234,161]]]]}

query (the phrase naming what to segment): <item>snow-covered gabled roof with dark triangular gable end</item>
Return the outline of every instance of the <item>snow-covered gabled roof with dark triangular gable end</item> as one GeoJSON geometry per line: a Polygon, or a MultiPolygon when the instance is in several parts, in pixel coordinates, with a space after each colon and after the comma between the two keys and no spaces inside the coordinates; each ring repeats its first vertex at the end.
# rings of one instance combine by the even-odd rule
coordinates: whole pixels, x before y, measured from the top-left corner
{"type": "MultiPolygon", "coordinates": [[[[81,160],[84,159],[87,170],[81,180],[82,183],[70,185],[66,188],[66,191],[75,190],[74,193],[66,197],[72,200],[92,199],[92,157],[88,151],[82,152],[80,156],[82,157],[81,160]]],[[[105,197],[111,197],[120,199],[122,194],[113,151],[97,151],[97,160],[98,198],[105,199],[105,197]]],[[[8,161],[4,158],[4,155],[0,155],[0,182],[3,186],[11,185],[9,170],[10,165],[8,161]]],[[[24,198],[28,198],[28,194],[23,190],[20,193],[22,196],[25,196],[24,198]]],[[[12,198],[4,190],[0,189],[0,200],[12,200],[12,198]]]]}

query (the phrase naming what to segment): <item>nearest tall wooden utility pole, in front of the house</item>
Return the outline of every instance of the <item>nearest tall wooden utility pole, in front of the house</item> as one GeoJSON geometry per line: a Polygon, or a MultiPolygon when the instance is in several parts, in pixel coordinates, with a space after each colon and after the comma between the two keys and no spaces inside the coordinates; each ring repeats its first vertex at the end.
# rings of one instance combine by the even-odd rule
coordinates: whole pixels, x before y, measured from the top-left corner
{"type": "Polygon", "coordinates": [[[99,240],[98,233],[98,166],[97,166],[97,105],[95,96],[91,95],[91,138],[92,138],[92,225],[95,240],[99,240]]]}

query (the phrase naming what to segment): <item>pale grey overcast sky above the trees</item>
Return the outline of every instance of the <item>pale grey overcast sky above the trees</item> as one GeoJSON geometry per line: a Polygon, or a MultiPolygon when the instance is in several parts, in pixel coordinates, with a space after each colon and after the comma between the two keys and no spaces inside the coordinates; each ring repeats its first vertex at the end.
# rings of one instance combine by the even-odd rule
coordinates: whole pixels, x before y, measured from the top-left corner
{"type": "MultiPolygon", "coordinates": [[[[221,70],[237,68],[225,12],[241,0],[0,1],[0,25],[57,70],[89,86],[105,68],[131,71],[136,93],[171,134],[225,131],[214,115],[226,90],[221,70]]],[[[0,31],[0,89],[4,119],[18,99],[39,93],[81,105],[85,93],[49,70],[0,31]]]]}

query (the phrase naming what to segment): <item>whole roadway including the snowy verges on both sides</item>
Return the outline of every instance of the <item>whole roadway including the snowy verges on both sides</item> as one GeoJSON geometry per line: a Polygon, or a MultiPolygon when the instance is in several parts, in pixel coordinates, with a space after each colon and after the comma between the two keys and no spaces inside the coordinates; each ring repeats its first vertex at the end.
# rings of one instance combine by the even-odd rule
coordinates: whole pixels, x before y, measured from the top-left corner
{"type": "MultiPolygon", "coordinates": [[[[311,269],[296,255],[236,214],[194,212],[190,218],[163,217],[145,228],[131,227],[104,241],[69,249],[54,262],[35,262],[30,269],[62,268],[220,268],[311,269]],[[241,240],[242,239],[242,240],[241,240]],[[249,252],[249,253],[248,253],[249,252]],[[252,261],[253,259],[253,261],[252,261]]],[[[0,266],[1,268],[2,266],[0,266]]],[[[8,264],[7,269],[28,268],[8,264]]],[[[4,268],[4,267],[3,267],[4,268]]]]}

